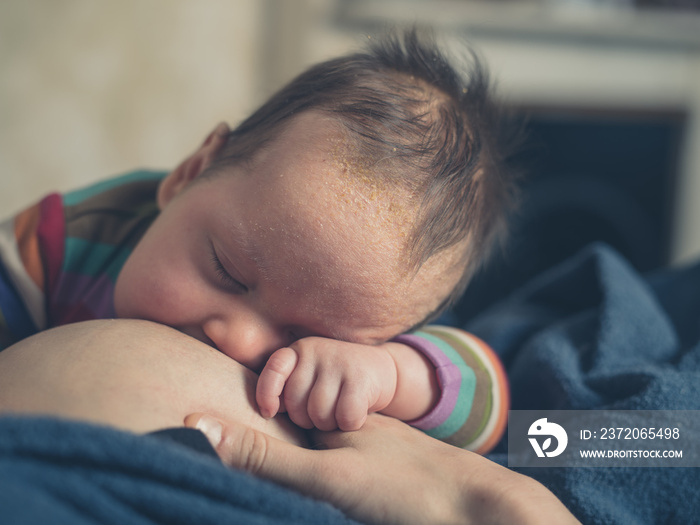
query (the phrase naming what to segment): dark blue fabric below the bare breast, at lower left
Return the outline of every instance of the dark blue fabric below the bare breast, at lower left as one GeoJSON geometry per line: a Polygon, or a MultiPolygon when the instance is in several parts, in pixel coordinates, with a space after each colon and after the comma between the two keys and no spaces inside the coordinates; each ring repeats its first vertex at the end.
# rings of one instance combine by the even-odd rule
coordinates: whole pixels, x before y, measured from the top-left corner
{"type": "Polygon", "coordinates": [[[0,523],[349,524],[313,501],[154,436],[0,418],[0,523]]]}

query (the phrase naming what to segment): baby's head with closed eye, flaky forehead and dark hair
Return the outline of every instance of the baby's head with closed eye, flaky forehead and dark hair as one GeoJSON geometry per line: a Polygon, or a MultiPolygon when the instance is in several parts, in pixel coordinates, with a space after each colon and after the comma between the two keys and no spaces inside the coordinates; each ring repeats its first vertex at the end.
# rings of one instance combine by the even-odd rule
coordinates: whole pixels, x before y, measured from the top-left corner
{"type": "Polygon", "coordinates": [[[512,192],[499,136],[481,68],[463,80],[414,32],[315,66],[161,184],[117,314],[254,369],[296,337],[389,339],[490,251],[512,192]]]}

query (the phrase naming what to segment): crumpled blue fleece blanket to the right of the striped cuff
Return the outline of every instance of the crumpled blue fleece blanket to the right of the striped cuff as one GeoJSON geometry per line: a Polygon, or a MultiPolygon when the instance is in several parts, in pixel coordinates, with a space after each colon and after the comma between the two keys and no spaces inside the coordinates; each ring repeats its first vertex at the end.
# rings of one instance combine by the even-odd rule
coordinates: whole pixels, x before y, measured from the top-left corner
{"type": "MultiPolygon", "coordinates": [[[[502,356],[514,410],[700,410],[700,264],[642,276],[593,245],[465,328],[502,356]]],[[[697,468],[521,472],[585,524],[700,523],[697,468]]]]}

